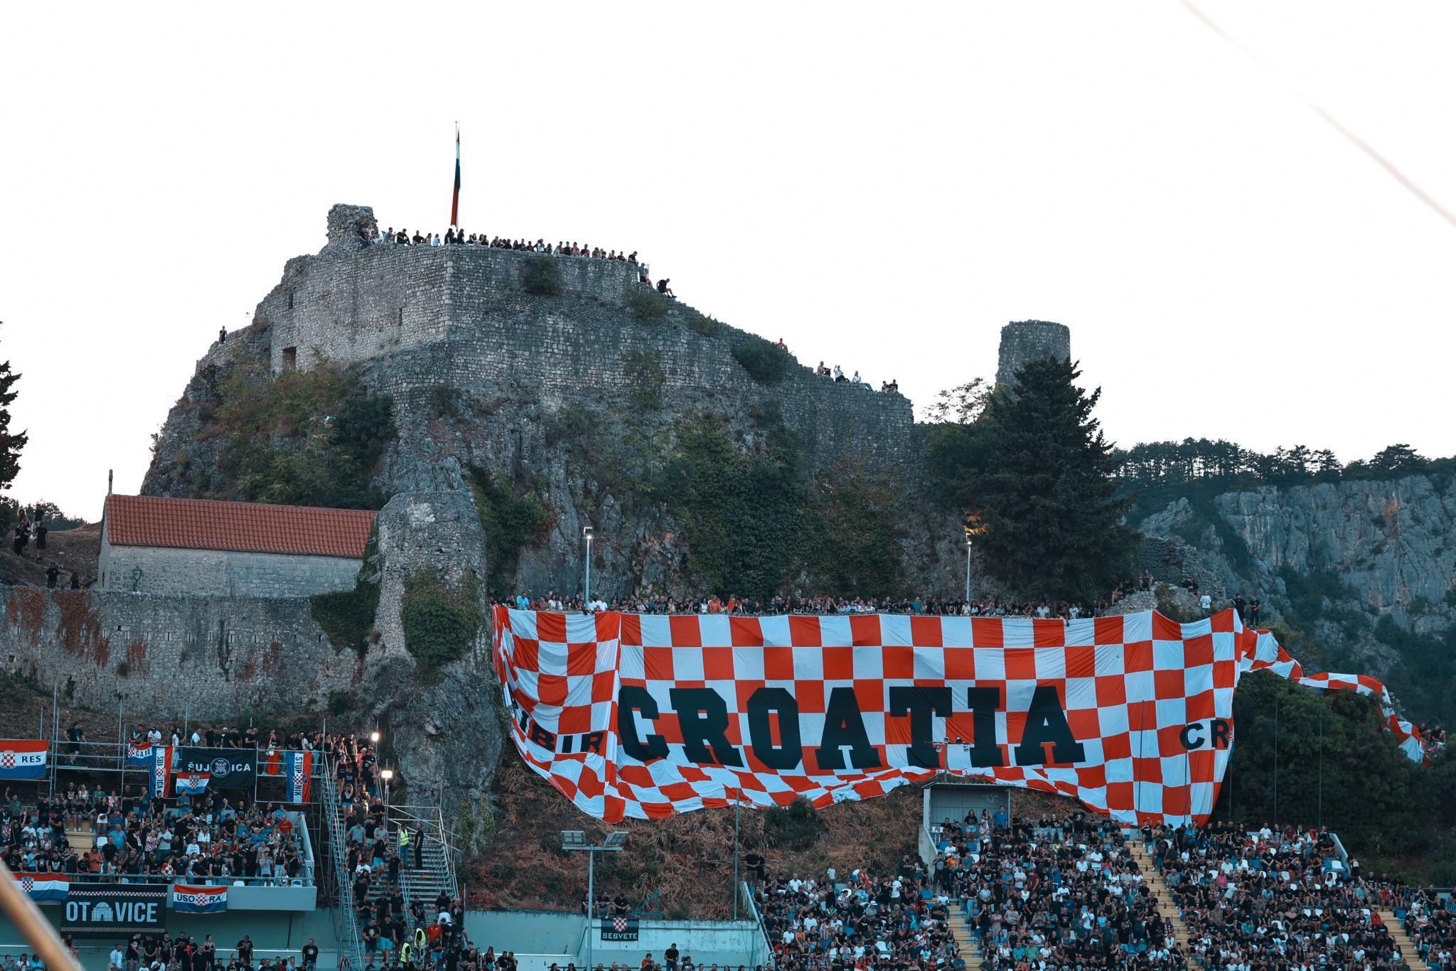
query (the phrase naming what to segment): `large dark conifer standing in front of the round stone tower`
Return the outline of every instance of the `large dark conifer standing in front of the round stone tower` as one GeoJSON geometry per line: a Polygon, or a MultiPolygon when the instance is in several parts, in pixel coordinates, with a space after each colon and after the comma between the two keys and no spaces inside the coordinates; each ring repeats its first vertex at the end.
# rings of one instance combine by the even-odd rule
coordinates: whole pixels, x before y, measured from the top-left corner
{"type": "Polygon", "coordinates": [[[992,576],[1021,595],[1101,600],[1131,575],[1137,534],[1120,521],[1117,459],[1102,438],[1077,365],[1045,358],[992,400],[968,492],[983,507],[977,546],[992,576]]]}

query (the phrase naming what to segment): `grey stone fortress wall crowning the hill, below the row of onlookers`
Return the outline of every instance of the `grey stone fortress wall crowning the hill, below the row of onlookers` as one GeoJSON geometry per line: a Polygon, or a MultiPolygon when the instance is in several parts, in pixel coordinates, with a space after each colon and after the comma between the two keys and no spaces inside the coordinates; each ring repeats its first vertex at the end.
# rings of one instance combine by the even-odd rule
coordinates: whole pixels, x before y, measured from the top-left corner
{"type": "Polygon", "coordinates": [[[542,298],[521,288],[536,253],[365,246],[360,224],[373,224],[371,210],[333,207],[331,242],[316,256],[288,261],[282,282],[258,304],[274,374],[312,367],[316,354],[341,362],[387,358],[371,383],[402,409],[450,384],[518,389],[552,413],[629,397],[630,360],[648,355],[662,373],[664,413],[695,405],[747,413],[772,402],[815,466],[846,450],[894,466],[914,451],[914,415],[903,395],[836,384],[804,365],[776,386],[759,384],[731,352],[745,335],[728,326],[699,333],[686,326],[697,312],[681,301],[660,320],[625,328],[623,303],[642,285],[633,263],[556,258],[562,296],[542,298]]]}

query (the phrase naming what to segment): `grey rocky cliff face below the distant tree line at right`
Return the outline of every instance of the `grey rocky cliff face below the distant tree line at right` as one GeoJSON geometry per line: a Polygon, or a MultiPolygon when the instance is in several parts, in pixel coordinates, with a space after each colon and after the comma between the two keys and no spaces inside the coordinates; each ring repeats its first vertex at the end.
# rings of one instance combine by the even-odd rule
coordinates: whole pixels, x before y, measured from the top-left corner
{"type": "Polygon", "coordinates": [[[1441,643],[1456,622],[1456,483],[1447,476],[1182,498],[1139,526],[1190,542],[1190,563],[1227,597],[1259,595],[1264,625],[1291,623],[1324,659],[1389,675],[1417,718],[1456,718],[1441,643]]]}

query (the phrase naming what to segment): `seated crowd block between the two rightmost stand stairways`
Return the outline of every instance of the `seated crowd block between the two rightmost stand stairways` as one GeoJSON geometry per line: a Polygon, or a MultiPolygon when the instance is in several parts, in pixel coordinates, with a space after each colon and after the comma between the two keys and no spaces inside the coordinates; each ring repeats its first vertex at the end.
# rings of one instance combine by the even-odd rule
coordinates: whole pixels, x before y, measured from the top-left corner
{"type": "Polygon", "coordinates": [[[1143,839],[1207,967],[1409,967],[1380,916],[1405,911],[1409,889],[1342,872],[1325,830],[1224,823],[1149,827],[1143,839]]]}

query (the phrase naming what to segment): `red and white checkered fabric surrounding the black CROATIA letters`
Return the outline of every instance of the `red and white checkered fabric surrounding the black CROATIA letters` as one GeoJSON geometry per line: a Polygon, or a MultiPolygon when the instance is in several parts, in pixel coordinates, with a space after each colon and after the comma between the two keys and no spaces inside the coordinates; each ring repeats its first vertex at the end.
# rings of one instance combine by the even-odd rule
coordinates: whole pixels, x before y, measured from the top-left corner
{"type": "MultiPolygon", "coordinates": [[[[805,796],[818,806],[862,799],[922,782],[911,766],[910,718],[887,715],[890,684],[997,687],[996,735],[1005,766],[974,769],[965,745],[941,745],[942,769],[961,776],[1076,796],[1125,821],[1207,820],[1229,748],[1213,747],[1210,722],[1233,718],[1243,671],[1268,668],[1310,687],[1350,687],[1385,697],[1372,678],[1305,677],[1273,636],[1245,630],[1232,611],[1178,625],[1155,611],[1083,620],[1024,617],[776,616],[729,617],[494,610],[495,665],[513,712],[521,757],[588,815],[654,818],[735,799],[754,806],[805,796]],[[1076,764],[1016,766],[1032,690],[1053,686],[1073,735],[1076,764]],[[661,716],[636,718],[641,734],[661,735],[668,757],[642,763],[619,745],[617,691],[645,689],[661,716]],[[715,690],[728,708],[728,741],[744,766],[697,764],[683,751],[673,687],[715,690]],[[799,706],[804,761],[769,769],[748,742],[748,696],[782,687],[799,706]],[[826,697],[855,691],[881,769],[821,769],[811,756],[824,728],[826,697]],[[529,724],[550,735],[606,732],[601,751],[539,744],[529,724]],[[1184,747],[1185,728],[1204,740],[1184,747]]],[[[1389,699],[1385,697],[1386,705],[1389,699]]],[[[935,719],[936,741],[971,740],[971,713],[935,719]]],[[[1393,719],[1393,715],[1392,715],[1393,719]]],[[[1409,726],[1401,722],[1404,729],[1409,726]]],[[[1402,741],[1405,741],[1402,738],[1402,741]]],[[[1415,742],[1418,748],[1418,741],[1415,742]]]]}

